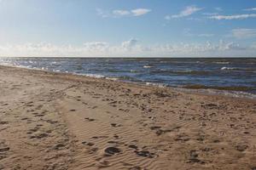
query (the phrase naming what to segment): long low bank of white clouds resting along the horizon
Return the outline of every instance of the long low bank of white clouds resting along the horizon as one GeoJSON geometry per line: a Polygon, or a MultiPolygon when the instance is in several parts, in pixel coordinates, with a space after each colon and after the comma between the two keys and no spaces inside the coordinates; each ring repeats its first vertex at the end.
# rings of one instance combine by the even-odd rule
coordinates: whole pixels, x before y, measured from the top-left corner
{"type": "Polygon", "coordinates": [[[136,38],[111,45],[108,42],[84,42],[81,46],[51,43],[0,45],[2,57],[251,57],[256,42],[241,47],[236,42],[166,43],[143,46],[136,38]]]}

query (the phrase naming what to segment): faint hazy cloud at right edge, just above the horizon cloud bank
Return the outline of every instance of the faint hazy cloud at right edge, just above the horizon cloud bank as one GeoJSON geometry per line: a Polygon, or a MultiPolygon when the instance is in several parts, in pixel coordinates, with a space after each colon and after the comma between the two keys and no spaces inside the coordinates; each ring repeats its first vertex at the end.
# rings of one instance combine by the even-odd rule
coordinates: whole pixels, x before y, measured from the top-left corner
{"type": "Polygon", "coordinates": [[[247,29],[247,28],[233,29],[231,33],[232,33],[232,37],[236,37],[239,39],[256,37],[256,29],[247,29]]]}

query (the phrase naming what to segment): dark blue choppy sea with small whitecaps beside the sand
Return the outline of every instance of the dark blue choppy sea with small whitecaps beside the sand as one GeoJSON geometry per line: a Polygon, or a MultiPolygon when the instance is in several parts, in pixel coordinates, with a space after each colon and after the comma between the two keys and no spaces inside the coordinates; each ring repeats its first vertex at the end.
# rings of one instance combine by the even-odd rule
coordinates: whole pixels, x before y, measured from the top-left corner
{"type": "Polygon", "coordinates": [[[0,65],[256,99],[256,58],[0,58],[0,65]]]}

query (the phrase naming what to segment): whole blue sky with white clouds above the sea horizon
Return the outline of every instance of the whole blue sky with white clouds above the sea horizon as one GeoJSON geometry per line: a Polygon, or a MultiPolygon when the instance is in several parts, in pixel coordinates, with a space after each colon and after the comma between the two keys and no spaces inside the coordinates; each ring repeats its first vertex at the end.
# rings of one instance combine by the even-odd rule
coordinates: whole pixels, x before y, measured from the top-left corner
{"type": "Polygon", "coordinates": [[[256,0],[0,0],[2,57],[256,57],[256,0]]]}

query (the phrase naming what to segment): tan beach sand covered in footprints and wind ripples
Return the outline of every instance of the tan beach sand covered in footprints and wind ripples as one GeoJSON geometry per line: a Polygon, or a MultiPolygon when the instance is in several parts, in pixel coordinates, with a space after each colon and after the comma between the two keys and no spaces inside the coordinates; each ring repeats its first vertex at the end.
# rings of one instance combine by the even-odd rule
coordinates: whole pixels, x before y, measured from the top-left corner
{"type": "Polygon", "coordinates": [[[256,101],[0,66],[0,169],[256,169],[256,101]]]}

